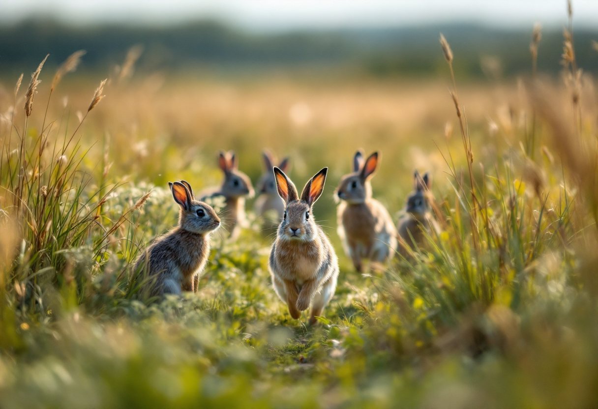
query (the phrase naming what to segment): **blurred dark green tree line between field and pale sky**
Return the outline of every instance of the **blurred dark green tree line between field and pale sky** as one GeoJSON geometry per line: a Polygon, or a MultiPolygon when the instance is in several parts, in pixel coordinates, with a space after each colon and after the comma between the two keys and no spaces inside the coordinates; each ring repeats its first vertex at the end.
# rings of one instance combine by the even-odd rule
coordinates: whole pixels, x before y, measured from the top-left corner
{"type": "MultiPolygon", "coordinates": [[[[438,33],[443,32],[459,55],[457,75],[498,78],[529,73],[532,29],[453,24],[255,33],[213,21],[171,26],[72,26],[53,20],[25,20],[0,25],[0,72],[33,69],[47,53],[51,55],[48,65],[56,65],[79,49],[87,50],[84,65],[88,71],[100,70],[121,62],[132,45],[141,44],[144,53],[139,69],[147,71],[324,66],[375,77],[426,76],[444,66],[438,44],[438,33]]],[[[598,39],[598,30],[575,30],[578,63],[587,71],[596,71],[598,66],[593,39],[598,39]]],[[[559,72],[561,50],[560,30],[545,30],[539,71],[559,72]]]]}

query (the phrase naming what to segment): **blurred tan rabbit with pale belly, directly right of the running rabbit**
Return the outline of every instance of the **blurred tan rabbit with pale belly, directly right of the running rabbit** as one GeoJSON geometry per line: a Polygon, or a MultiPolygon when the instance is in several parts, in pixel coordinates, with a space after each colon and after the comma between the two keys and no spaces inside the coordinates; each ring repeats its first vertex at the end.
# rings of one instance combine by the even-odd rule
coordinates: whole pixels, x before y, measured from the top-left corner
{"type": "Polygon", "coordinates": [[[337,233],[355,270],[362,272],[362,258],[384,263],[396,251],[396,228],[386,207],[372,198],[370,180],[380,163],[378,152],[364,161],[361,150],[353,157],[353,173],[343,176],[335,191],[337,233]]]}

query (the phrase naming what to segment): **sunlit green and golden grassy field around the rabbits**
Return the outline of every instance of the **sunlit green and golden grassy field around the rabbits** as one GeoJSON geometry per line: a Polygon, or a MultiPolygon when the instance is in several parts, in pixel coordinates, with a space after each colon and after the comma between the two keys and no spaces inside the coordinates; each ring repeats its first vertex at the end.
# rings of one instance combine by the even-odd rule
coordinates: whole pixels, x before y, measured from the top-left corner
{"type": "Polygon", "coordinates": [[[3,80],[0,407],[596,407],[596,94],[573,50],[564,85],[454,88],[450,64],[429,81],[121,69],[95,95],[104,77],[82,72],[3,80]],[[251,211],[238,240],[213,237],[197,294],[141,297],[132,263],[176,224],[167,182],[217,185],[234,149],[255,183],[263,148],[298,185],[329,167],[325,318],[277,299],[251,211]],[[335,231],[357,148],[382,152],[395,221],[413,170],[434,176],[442,232],[383,273],[355,273],[335,231]]]}

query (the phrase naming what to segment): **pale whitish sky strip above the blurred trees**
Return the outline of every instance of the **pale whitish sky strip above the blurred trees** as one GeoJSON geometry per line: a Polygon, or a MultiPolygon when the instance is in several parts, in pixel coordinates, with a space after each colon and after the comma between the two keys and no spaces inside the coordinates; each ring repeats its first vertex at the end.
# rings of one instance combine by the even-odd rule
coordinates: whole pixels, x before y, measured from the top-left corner
{"type": "MultiPolygon", "coordinates": [[[[566,0],[0,0],[0,22],[176,23],[212,18],[260,31],[477,22],[529,28],[566,23],[566,0]]],[[[598,28],[598,0],[573,2],[574,26],[598,28]]]]}

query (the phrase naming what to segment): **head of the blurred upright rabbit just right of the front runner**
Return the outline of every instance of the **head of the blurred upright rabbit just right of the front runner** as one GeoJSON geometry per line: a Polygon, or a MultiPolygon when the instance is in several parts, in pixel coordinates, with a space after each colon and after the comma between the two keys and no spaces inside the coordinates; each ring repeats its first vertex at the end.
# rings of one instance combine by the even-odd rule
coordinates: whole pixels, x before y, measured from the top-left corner
{"type": "Polygon", "coordinates": [[[344,175],[340,179],[340,184],[338,184],[335,191],[335,198],[346,200],[347,203],[352,205],[365,203],[367,199],[370,199],[372,196],[370,179],[376,172],[379,162],[378,152],[374,152],[367,160],[364,160],[361,149],[357,151],[355,157],[353,157],[353,173],[344,175]]]}

